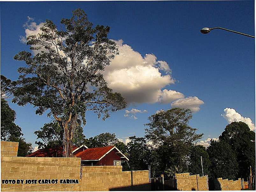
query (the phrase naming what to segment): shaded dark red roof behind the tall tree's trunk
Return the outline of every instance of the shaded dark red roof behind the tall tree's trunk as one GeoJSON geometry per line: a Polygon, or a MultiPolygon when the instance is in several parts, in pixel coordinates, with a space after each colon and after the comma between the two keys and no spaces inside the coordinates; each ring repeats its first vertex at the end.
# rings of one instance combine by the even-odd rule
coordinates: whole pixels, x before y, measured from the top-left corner
{"type": "MultiPolygon", "coordinates": [[[[73,151],[77,147],[73,145],[73,151]]],[[[57,147],[57,150],[55,148],[45,148],[45,149],[38,149],[37,151],[33,152],[30,155],[27,155],[27,157],[62,157],[63,155],[63,147],[57,147]],[[57,153],[57,154],[56,154],[57,153]]]]}

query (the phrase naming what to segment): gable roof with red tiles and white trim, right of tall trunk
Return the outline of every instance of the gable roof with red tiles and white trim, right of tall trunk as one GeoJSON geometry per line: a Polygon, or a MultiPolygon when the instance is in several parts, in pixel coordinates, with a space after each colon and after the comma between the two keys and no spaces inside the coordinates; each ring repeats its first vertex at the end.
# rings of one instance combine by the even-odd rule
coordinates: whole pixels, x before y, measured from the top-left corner
{"type": "Polygon", "coordinates": [[[77,154],[75,154],[75,156],[80,157],[81,161],[99,161],[113,149],[117,151],[116,153],[118,156],[120,156],[121,158],[125,158],[129,161],[129,159],[115,146],[89,148],[85,149],[84,151],[78,152],[77,154]]]}

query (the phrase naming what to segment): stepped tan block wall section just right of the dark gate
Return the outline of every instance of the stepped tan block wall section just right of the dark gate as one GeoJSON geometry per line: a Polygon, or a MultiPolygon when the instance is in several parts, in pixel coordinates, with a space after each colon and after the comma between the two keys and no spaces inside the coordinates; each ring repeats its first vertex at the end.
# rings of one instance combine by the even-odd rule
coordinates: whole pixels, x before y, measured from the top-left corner
{"type": "Polygon", "coordinates": [[[182,191],[208,191],[207,176],[189,175],[189,173],[175,174],[177,190],[182,191]]]}

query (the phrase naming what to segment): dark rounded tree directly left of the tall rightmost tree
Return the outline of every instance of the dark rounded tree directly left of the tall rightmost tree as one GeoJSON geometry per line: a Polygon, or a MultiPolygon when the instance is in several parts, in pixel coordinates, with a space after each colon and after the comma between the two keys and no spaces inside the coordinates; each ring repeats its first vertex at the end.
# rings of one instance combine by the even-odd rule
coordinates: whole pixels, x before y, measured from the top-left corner
{"type": "Polygon", "coordinates": [[[232,147],[224,141],[211,140],[207,148],[211,161],[209,177],[223,179],[238,179],[238,162],[232,147]]]}

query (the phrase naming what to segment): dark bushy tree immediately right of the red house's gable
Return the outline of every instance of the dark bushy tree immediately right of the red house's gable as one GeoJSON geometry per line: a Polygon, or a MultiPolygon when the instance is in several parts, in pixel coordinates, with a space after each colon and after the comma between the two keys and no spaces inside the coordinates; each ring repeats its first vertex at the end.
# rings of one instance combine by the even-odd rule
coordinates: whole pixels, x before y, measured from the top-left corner
{"type": "Polygon", "coordinates": [[[147,170],[150,164],[150,148],[146,144],[144,137],[129,137],[131,140],[127,143],[128,147],[128,158],[130,170],[147,170]]]}

